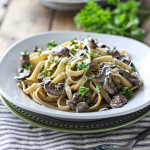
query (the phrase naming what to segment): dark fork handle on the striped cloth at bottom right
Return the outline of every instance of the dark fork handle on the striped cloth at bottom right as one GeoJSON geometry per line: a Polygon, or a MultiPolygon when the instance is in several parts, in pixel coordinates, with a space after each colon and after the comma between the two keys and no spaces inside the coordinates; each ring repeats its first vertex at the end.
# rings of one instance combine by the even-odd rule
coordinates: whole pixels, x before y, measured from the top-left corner
{"type": "Polygon", "coordinates": [[[128,146],[130,146],[130,148],[132,148],[132,146],[134,146],[140,140],[144,139],[149,134],[150,134],[150,128],[144,130],[142,133],[140,133],[138,136],[136,136],[133,140],[131,140],[129,142],[128,146]]]}

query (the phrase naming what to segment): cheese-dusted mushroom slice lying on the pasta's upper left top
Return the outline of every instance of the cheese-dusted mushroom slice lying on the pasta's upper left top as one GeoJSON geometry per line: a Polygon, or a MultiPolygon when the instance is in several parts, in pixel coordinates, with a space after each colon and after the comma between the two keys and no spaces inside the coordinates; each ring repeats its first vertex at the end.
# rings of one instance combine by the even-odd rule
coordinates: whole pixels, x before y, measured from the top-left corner
{"type": "Polygon", "coordinates": [[[51,54],[57,56],[69,56],[69,49],[67,47],[56,47],[51,50],[51,54]]]}

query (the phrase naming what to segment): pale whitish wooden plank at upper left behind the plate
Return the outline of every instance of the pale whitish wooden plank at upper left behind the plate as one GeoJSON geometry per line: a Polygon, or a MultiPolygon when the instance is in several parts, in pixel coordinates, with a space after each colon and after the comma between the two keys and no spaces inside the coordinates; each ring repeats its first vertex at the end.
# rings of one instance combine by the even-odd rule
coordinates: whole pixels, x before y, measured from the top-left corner
{"type": "Polygon", "coordinates": [[[38,0],[13,0],[3,20],[0,33],[0,55],[26,36],[47,31],[52,10],[41,6],[38,0]]]}

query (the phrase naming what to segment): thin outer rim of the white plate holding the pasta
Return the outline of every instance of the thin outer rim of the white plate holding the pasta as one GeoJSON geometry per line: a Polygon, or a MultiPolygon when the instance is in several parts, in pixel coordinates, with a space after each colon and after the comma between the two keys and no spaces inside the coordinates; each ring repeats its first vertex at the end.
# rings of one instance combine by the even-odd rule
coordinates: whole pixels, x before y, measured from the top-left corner
{"type": "MultiPolygon", "coordinates": [[[[31,35],[31,36],[28,36],[26,38],[23,38],[21,40],[19,40],[18,42],[14,43],[12,46],[10,46],[10,48],[8,48],[8,50],[5,52],[5,54],[1,57],[0,59],[0,64],[1,62],[3,61],[3,59],[5,58],[5,56],[11,51],[11,49],[18,45],[19,43],[23,42],[24,40],[27,40],[27,39],[30,39],[30,38],[33,38],[33,37],[37,37],[37,36],[40,36],[40,35],[48,35],[48,34],[64,34],[64,33],[69,33],[69,34],[85,34],[86,35],[89,35],[89,34],[92,34],[92,35],[103,35],[103,36],[112,36],[112,37],[119,37],[119,38],[125,38],[125,39],[128,39],[128,40],[132,40],[132,41],[135,41],[135,42],[138,42],[140,44],[142,44],[143,46],[146,46],[148,49],[150,49],[149,46],[147,46],[146,44],[140,42],[140,41],[137,41],[137,40],[134,40],[134,39],[131,39],[131,38],[128,38],[128,37],[123,37],[123,36],[118,36],[118,35],[110,35],[110,34],[101,34],[101,33],[91,33],[91,32],[78,32],[78,31],[49,31],[49,32],[41,32],[41,33],[38,33],[38,34],[34,34],[34,35],[31,35]]],[[[29,110],[29,111],[32,111],[32,112],[37,112],[37,113],[40,113],[40,114],[46,114],[48,116],[55,116],[56,114],[55,113],[48,113],[46,111],[39,111],[39,110],[36,110],[34,108],[30,108],[30,107],[27,107],[26,105],[23,105],[22,103],[17,103],[17,101],[13,100],[10,96],[7,95],[7,93],[5,93],[3,90],[2,90],[2,87],[0,86],[0,93],[10,102],[12,102],[13,104],[23,108],[23,109],[26,109],[26,110],[29,110]]],[[[146,106],[148,106],[150,104],[150,101],[146,102],[145,104],[139,106],[139,107],[136,107],[135,109],[132,109],[130,111],[125,111],[125,112],[122,112],[120,113],[119,115],[117,113],[114,113],[113,115],[111,116],[108,116],[108,115],[101,115],[101,117],[99,118],[98,115],[95,116],[94,112],[91,113],[91,118],[89,120],[96,120],[96,119],[103,119],[103,118],[108,118],[108,117],[115,117],[115,116],[121,116],[121,115],[125,115],[125,114],[129,114],[129,113],[132,113],[132,112],[135,112],[135,111],[138,111],[146,106]],[[94,116],[94,118],[92,118],[92,116],[94,116]]],[[[71,114],[70,115],[64,115],[66,114],[66,112],[62,112],[62,114],[59,114],[59,116],[57,115],[58,118],[65,118],[65,119],[74,119],[74,120],[82,120],[83,119],[83,114],[87,114],[87,113],[81,113],[80,115],[77,115],[76,113],[74,114],[71,114]],[[72,117],[72,118],[70,118],[72,117]],[[78,118],[77,118],[78,117],[78,118]]],[[[85,116],[84,116],[85,117],[85,116]]],[[[85,117],[85,119],[88,119],[88,116],[85,117]]]]}

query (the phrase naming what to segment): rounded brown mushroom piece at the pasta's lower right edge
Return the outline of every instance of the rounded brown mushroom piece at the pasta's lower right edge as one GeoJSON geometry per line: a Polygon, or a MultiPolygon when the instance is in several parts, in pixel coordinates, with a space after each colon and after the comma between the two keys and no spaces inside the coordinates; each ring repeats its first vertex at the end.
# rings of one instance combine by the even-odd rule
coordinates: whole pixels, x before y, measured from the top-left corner
{"type": "Polygon", "coordinates": [[[110,106],[112,108],[119,108],[124,106],[127,103],[127,98],[121,94],[115,95],[113,96],[111,102],[110,102],[110,106]]]}

